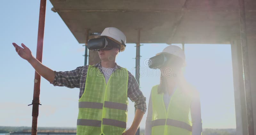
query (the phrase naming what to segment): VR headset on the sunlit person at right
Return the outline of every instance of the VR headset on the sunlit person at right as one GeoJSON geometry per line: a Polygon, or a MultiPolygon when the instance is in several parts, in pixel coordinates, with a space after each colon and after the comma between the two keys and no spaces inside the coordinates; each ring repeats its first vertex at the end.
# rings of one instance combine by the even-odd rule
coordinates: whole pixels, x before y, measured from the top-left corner
{"type": "Polygon", "coordinates": [[[154,57],[151,57],[148,60],[148,67],[156,69],[156,68],[161,68],[166,64],[178,64],[183,62],[184,60],[182,60],[178,56],[172,55],[170,53],[161,53],[154,57]]]}

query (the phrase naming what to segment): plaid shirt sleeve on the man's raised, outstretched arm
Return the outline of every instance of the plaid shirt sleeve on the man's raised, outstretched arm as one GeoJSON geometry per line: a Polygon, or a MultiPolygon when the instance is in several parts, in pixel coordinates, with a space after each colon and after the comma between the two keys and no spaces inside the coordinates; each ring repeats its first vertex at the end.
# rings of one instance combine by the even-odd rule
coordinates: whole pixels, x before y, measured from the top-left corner
{"type": "Polygon", "coordinates": [[[68,88],[80,88],[80,78],[87,74],[87,66],[77,67],[72,71],[55,72],[53,84],[54,86],[66,86],[68,88]]]}

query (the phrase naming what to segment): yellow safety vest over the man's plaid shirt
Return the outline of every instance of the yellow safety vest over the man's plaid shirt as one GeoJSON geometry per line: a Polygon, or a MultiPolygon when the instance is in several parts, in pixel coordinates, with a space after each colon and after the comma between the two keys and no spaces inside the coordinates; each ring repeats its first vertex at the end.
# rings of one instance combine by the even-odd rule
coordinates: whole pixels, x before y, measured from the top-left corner
{"type": "Polygon", "coordinates": [[[122,135],[127,122],[128,71],[118,68],[108,83],[99,68],[89,66],[79,99],[77,135],[122,135]]]}

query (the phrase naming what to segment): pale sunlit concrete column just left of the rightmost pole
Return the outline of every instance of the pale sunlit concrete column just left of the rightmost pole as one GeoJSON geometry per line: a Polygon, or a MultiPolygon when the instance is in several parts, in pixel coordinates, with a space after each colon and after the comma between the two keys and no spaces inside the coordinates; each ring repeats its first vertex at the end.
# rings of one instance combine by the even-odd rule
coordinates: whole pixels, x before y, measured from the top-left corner
{"type": "Polygon", "coordinates": [[[241,40],[236,38],[230,44],[236,108],[236,135],[248,135],[241,40]]]}

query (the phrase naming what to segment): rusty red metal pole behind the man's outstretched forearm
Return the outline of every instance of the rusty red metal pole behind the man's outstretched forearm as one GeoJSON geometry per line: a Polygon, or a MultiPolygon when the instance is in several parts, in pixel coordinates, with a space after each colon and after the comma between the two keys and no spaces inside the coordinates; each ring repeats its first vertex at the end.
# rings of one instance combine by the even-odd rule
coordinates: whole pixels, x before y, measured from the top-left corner
{"type": "MultiPolygon", "coordinates": [[[[36,48],[36,59],[42,62],[43,55],[43,41],[44,41],[44,20],[45,20],[45,7],[46,0],[40,1],[40,12],[39,12],[39,23],[38,23],[38,35],[37,35],[37,48],[36,48]]],[[[32,135],[37,134],[37,117],[39,112],[39,95],[40,95],[40,82],[41,76],[35,71],[34,80],[34,95],[32,101],[32,135]]]]}

